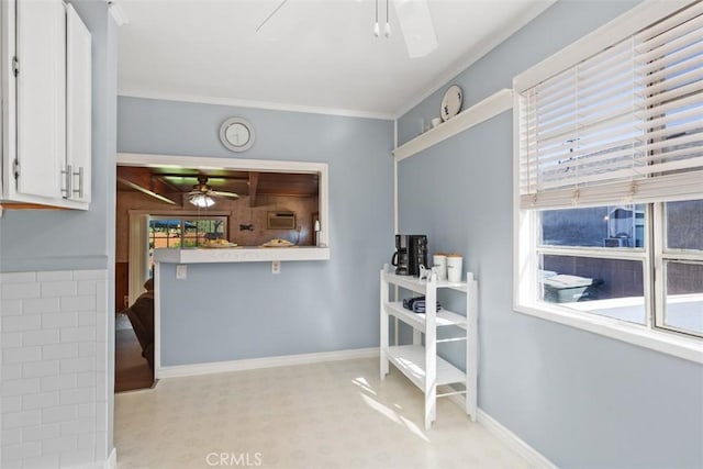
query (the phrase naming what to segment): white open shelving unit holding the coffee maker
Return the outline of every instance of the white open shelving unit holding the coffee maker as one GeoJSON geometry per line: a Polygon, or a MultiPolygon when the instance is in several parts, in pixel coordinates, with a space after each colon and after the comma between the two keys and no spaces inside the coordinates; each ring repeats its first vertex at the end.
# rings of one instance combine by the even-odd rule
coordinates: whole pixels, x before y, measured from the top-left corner
{"type": "MultiPolygon", "coordinates": [[[[478,384],[478,301],[477,282],[473,273],[467,272],[467,281],[449,283],[437,281],[436,276],[429,280],[416,277],[398,276],[381,270],[381,379],[389,372],[389,364],[393,364],[425,394],[425,429],[429,429],[437,416],[437,398],[465,394],[466,413],[476,422],[477,384],[478,384]],[[401,301],[391,300],[389,286],[398,286],[425,297],[425,313],[414,313],[403,308],[401,301]],[[466,316],[447,311],[436,311],[437,289],[448,288],[466,293],[466,316]],[[413,344],[399,345],[390,343],[389,321],[393,317],[413,328],[413,344]],[[437,339],[438,327],[454,327],[460,335],[437,339]],[[425,336],[424,345],[422,335],[425,336]],[[437,355],[437,343],[466,343],[466,372],[449,364],[437,355]],[[464,390],[451,390],[438,394],[437,387],[461,384],[464,390]]],[[[398,299],[394,299],[398,300],[398,299]]],[[[397,324],[398,327],[398,324],[397,324]]],[[[398,335],[395,335],[398,337],[398,335]]]]}

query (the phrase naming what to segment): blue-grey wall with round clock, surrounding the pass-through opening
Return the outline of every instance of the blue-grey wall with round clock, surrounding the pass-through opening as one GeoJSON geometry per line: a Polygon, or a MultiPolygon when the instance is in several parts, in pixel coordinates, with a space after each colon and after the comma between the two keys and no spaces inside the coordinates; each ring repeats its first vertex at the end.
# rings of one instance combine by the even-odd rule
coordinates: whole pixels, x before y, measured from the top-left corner
{"type": "Polygon", "coordinates": [[[120,152],[322,161],[330,166],[328,261],[161,268],[161,364],[377,346],[378,271],[393,248],[391,121],[121,97],[120,152]],[[228,116],[256,132],[226,150],[228,116]]]}

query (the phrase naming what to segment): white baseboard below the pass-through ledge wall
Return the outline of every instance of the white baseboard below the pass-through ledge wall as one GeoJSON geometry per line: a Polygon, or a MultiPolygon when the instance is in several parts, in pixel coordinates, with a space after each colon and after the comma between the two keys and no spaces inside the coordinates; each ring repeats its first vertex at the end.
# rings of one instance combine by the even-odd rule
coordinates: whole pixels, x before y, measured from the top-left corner
{"type": "Polygon", "coordinates": [[[249,358],[245,360],[215,361],[210,364],[177,365],[156,369],[156,378],[180,378],[187,376],[254,370],[259,368],[288,367],[292,365],[319,364],[322,361],[353,360],[379,356],[379,348],[355,348],[350,350],[321,351],[317,354],[283,355],[279,357],[249,358]]]}

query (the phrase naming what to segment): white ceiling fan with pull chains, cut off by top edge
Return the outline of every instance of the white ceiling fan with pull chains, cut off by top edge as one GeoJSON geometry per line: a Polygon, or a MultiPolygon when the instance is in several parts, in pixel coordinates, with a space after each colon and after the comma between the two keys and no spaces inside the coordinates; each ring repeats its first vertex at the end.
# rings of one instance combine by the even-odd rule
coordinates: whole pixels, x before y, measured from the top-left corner
{"type": "MultiPolygon", "coordinates": [[[[261,27],[264,27],[264,25],[268,23],[268,21],[278,13],[279,10],[288,3],[288,1],[289,0],[280,0],[278,5],[258,25],[256,32],[258,33],[261,27]]],[[[432,22],[427,0],[386,0],[384,37],[389,38],[391,36],[390,3],[393,4],[395,10],[398,23],[400,24],[401,33],[405,41],[405,47],[408,48],[408,56],[410,58],[424,57],[437,48],[437,34],[435,33],[435,26],[432,22]]],[[[372,30],[376,37],[381,35],[378,12],[379,0],[376,0],[376,23],[372,30]]]]}

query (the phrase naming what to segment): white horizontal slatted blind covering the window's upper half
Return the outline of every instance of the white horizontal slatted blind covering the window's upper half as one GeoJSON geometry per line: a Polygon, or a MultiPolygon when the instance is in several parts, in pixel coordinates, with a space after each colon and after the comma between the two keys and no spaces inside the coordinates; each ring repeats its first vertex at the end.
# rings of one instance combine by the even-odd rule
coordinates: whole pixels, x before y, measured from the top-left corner
{"type": "Polygon", "coordinates": [[[703,2],[520,93],[523,209],[703,198],[703,2]]]}

